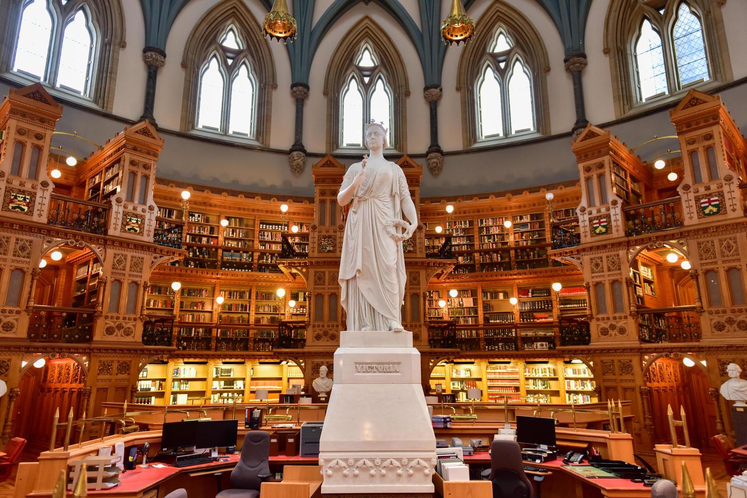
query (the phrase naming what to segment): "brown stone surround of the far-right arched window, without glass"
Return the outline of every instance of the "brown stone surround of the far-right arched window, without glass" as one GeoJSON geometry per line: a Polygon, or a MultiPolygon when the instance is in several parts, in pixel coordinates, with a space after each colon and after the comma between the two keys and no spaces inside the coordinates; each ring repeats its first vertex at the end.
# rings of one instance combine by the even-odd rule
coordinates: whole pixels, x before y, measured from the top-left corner
{"type": "MultiPolygon", "coordinates": [[[[667,0],[667,8],[677,8],[685,1],[691,9],[698,12],[703,26],[705,47],[708,56],[708,69],[714,82],[731,81],[734,75],[731,70],[722,6],[724,0],[667,0]]],[[[611,0],[604,18],[603,52],[610,59],[612,73],[613,104],[616,117],[622,117],[636,106],[638,102],[634,47],[639,28],[646,10],[652,7],[643,1],[611,0]]],[[[671,30],[672,26],[669,26],[671,30]]],[[[665,59],[668,55],[664,54],[665,59]]],[[[668,61],[672,64],[671,60],[668,61]]],[[[708,82],[707,82],[708,83],[708,82]]],[[[706,83],[706,84],[707,84],[706,83]]],[[[678,101],[686,93],[680,90],[666,97],[668,101],[678,101]]],[[[660,105],[662,99],[655,100],[660,105]]]]}

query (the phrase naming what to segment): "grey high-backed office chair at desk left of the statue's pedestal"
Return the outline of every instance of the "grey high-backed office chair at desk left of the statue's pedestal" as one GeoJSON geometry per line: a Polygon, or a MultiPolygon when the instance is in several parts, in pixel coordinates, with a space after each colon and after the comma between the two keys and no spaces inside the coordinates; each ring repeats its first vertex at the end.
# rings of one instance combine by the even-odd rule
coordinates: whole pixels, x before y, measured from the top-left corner
{"type": "Polygon", "coordinates": [[[270,434],[249,431],[244,437],[241,458],[231,471],[233,488],[220,491],[215,498],[258,498],[260,485],[271,476],[270,434]]]}

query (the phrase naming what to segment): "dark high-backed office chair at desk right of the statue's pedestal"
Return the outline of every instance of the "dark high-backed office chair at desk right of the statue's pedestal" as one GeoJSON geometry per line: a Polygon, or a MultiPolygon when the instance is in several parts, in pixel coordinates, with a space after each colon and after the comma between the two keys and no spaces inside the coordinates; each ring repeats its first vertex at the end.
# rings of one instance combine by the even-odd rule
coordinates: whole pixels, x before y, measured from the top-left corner
{"type": "Polygon", "coordinates": [[[490,447],[493,498],[533,498],[532,483],[524,473],[521,448],[515,441],[497,440],[490,447]]]}

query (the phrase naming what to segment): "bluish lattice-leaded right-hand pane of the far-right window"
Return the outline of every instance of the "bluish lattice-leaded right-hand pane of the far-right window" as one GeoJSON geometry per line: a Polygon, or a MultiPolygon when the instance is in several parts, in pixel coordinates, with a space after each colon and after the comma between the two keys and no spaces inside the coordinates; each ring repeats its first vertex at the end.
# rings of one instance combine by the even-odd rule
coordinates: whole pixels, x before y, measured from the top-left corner
{"type": "Polygon", "coordinates": [[[672,30],[680,86],[708,79],[708,60],[705,55],[703,29],[685,2],[677,10],[677,22],[672,30]]]}

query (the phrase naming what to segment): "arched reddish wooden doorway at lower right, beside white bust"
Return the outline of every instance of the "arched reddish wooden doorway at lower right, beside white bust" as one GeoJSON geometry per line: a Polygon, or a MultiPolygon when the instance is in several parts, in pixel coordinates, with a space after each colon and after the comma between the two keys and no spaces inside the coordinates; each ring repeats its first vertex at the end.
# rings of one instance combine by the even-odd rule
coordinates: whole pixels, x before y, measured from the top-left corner
{"type": "MultiPolygon", "coordinates": [[[[672,443],[667,407],[672,406],[675,420],[680,420],[680,407],[685,410],[690,444],[696,448],[710,447],[716,434],[716,405],[708,393],[710,382],[700,358],[657,358],[645,372],[648,402],[654,424],[654,442],[672,443]]],[[[684,443],[681,428],[678,443],[684,443]]]]}

